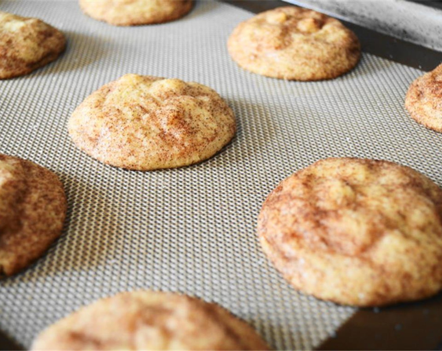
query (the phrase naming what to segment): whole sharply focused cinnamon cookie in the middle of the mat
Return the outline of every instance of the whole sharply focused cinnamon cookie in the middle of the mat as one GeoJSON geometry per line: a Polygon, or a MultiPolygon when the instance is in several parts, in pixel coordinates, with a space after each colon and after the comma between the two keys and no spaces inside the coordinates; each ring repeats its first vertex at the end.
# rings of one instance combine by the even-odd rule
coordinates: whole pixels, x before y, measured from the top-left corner
{"type": "Polygon", "coordinates": [[[236,124],[209,87],[126,74],[86,98],[68,128],[74,143],[101,162],[155,170],[210,158],[232,139],[236,124]]]}

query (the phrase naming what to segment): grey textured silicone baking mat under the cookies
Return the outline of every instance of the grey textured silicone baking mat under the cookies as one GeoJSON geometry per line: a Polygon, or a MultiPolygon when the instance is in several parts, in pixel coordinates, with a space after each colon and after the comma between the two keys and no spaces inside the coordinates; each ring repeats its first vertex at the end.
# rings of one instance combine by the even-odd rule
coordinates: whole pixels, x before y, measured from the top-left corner
{"type": "Polygon", "coordinates": [[[199,2],[183,19],[114,27],[76,2],[0,1],[68,38],[65,54],[0,81],[0,152],[55,171],[69,202],[63,236],[45,257],[0,284],[0,328],[29,347],[47,325],[118,291],[181,291],[250,322],[276,349],[311,349],[355,309],[294,291],[267,263],[255,223],[284,177],[328,156],[388,159],[442,185],[442,135],[408,117],[409,83],[422,72],[364,54],[335,80],[300,83],[245,72],[226,40],[252,14],[199,2]],[[235,139],[198,165],[153,172],[101,164],[74,147],[72,110],[125,73],[197,81],[236,114],[235,139]]]}

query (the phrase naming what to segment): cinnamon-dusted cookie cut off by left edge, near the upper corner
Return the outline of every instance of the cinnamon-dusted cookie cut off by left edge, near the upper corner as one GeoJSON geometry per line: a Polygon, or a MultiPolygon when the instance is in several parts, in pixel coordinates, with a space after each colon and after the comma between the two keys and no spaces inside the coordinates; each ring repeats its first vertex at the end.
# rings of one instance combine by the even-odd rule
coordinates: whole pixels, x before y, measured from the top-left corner
{"type": "Polygon", "coordinates": [[[59,30],[40,19],[0,11],[0,79],[28,74],[65,49],[59,30]]]}

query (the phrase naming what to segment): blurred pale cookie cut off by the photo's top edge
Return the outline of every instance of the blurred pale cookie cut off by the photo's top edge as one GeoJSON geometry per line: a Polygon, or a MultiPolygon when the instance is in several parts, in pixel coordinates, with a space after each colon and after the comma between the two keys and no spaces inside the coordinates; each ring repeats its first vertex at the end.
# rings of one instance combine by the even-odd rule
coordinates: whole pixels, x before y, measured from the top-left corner
{"type": "Polygon", "coordinates": [[[138,26],[179,19],[192,8],[191,0],[80,0],[83,12],[115,26],[138,26]]]}

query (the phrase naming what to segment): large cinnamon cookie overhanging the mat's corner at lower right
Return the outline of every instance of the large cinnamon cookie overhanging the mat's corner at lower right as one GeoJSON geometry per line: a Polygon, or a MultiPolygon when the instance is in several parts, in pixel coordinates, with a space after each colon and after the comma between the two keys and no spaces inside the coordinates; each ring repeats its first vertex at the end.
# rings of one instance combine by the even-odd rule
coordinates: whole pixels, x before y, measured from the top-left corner
{"type": "Polygon", "coordinates": [[[382,306],[442,288],[442,190],[406,166],[320,160],[282,181],[258,220],[264,252],[298,290],[382,306]]]}

